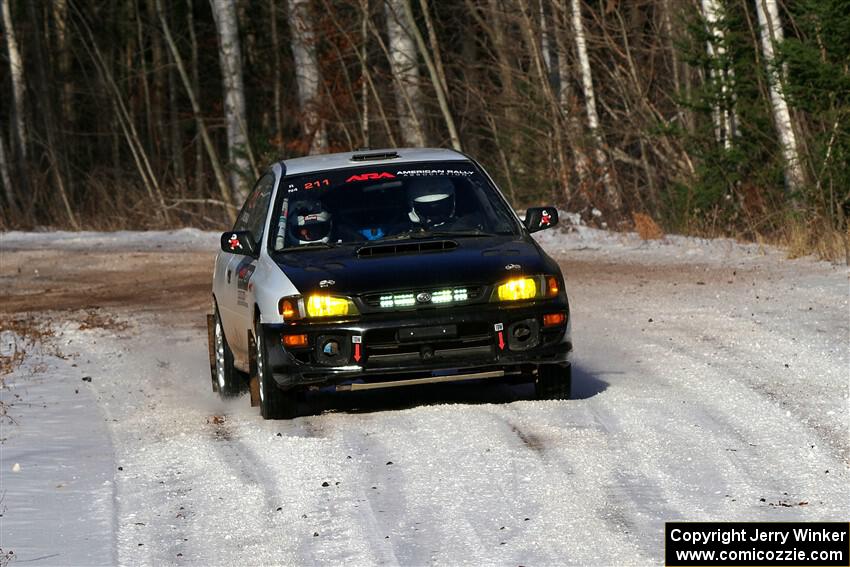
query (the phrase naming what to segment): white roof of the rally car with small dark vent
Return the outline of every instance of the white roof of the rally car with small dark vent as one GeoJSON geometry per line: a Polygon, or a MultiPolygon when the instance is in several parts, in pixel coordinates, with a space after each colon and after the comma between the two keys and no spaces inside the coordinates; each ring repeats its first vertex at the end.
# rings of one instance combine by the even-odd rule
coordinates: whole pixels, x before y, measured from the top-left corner
{"type": "Polygon", "coordinates": [[[469,161],[469,158],[445,148],[384,148],[305,156],[281,163],[286,167],[287,175],[299,175],[328,169],[421,161],[469,161]]]}

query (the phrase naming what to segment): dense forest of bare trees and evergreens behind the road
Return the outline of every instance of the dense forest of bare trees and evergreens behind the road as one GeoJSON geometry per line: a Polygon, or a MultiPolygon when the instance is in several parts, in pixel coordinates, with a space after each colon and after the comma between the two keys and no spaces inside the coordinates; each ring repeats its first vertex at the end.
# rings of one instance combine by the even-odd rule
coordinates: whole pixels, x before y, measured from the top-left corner
{"type": "Polygon", "coordinates": [[[0,229],[217,228],[275,160],[442,146],[517,208],[850,255],[850,0],[0,6],[0,229]]]}

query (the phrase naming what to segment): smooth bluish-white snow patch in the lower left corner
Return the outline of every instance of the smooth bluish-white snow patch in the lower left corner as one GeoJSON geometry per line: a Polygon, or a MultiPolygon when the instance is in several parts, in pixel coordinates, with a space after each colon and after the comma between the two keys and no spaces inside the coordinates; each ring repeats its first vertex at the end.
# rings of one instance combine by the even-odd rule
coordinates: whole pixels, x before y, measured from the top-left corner
{"type": "MultiPolygon", "coordinates": [[[[0,341],[8,354],[22,338],[3,332],[0,341]]],[[[36,347],[0,390],[10,406],[0,417],[0,548],[36,565],[109,565],[112,443],[72,364],[36,347]]]]}

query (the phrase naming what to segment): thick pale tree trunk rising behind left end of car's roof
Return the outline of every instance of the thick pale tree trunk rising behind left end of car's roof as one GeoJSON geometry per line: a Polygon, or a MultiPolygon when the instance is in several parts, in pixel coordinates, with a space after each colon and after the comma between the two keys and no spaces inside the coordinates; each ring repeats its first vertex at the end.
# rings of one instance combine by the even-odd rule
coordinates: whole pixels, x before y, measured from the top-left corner
{"type": "Polygon", "coordinates": [[[303,117],[304,135],[309,140],[307,153],[324,153],[328,148],[325,124],[319,116],[319,58],[315,33],[310,21],[308,0],[287,0],[298,105],[303,117]]]}

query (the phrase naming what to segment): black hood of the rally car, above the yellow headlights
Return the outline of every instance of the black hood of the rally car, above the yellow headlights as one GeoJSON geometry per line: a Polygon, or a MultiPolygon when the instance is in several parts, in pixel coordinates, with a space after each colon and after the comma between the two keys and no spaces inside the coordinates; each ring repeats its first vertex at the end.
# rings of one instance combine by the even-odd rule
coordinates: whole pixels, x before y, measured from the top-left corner
{"type": "Polygon", "coordinates": [[[454,243],[457,246],[434,252],[371,257],[358,255],[364,246],[340,246],[278,254],[275,260],[302,294],[321,290],[359,295],[447,285],[491,285],[510,276],[557,270],[554,262],[530,239],[520,236],[403,241],[404,244],[417,242],[448,242],[448,246],[454,243]]]}

